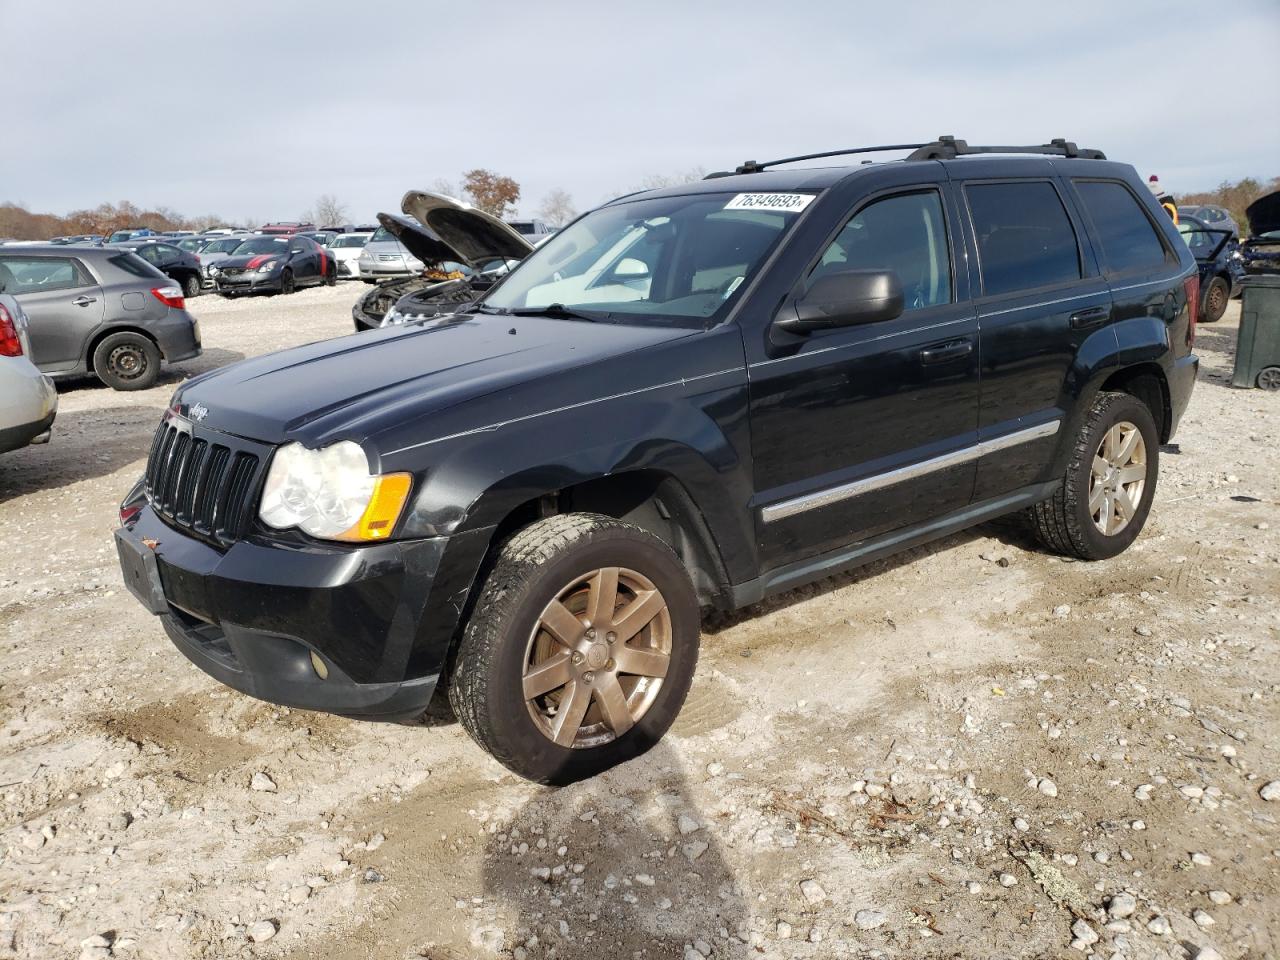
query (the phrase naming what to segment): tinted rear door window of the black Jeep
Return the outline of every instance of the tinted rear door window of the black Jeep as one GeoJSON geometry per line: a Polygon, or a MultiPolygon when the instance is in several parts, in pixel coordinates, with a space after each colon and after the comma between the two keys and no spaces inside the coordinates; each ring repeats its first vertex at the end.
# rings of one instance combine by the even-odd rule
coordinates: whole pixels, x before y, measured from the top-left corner
{"type": "Polygon", "coordinates": [[[1052,183],[970,183],[965,197],[988,297],[1080,279],[1075,229],[1052,183]]]}

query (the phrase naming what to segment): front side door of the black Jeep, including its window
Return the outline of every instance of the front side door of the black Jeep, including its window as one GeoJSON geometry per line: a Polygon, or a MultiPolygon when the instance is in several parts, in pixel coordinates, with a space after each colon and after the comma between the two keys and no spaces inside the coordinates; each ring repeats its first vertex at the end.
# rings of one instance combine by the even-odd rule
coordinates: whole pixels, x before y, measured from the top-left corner
{"type": "Polygon", "coordinates": [[[957,284],[954,218],[936,175],[851,210],[796,287],[803,293],[833,270],[891,269],[902,315],[814,333],[794,352],[750,361],[765,570],[969,503],[978,323],[966,283],[957,284]]]}

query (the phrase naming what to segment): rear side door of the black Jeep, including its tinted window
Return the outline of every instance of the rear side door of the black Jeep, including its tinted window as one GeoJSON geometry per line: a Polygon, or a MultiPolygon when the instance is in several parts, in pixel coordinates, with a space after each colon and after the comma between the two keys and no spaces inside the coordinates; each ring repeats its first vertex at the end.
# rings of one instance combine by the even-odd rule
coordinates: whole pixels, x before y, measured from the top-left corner
{"type": "Polygon", "coordinates": [[[1107,339],[1114,353],[1111,293],[1062,184],[1043,169],[1043,177],[956,178],[977,264],[979,502],[1046,479],[1073,408],[1076,355],[1091,337],[1107,339]]]}

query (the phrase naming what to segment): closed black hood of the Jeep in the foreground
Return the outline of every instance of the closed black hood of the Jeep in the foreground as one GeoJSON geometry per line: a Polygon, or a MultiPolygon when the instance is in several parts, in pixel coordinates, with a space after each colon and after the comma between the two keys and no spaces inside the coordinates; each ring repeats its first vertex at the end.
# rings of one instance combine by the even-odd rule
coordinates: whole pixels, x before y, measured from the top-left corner
{"type": "MultiPolygon", "coordinates": [[[[430,426],[433,415],[451,407],[535,380],[563,385],[588,364],[692,333],[462,314],[244,360],[188,380],[174,403],[184,413],[198,402],[204,426],[266,443],[365,442],[411,420],[433,439],[433,429],[449,429],[430,426]]],[[[456,426],[460,411],[442,421],[456,426]]]]}

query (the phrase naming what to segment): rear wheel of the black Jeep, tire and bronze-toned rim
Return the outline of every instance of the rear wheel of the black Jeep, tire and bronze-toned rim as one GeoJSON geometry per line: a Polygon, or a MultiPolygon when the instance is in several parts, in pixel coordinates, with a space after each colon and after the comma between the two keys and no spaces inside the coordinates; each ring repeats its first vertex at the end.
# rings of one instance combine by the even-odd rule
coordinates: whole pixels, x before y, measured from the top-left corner
{"type": "MultiPolygon", "coordinates": [[[[1123,449],[1112,448],[1112,453],[1123,454],[1123,449]]],[[[1121,460],[1119,456],[1101,457],[1103,461],[1111,458],[1121,460]]],[[[1030,526],[1041,543],[1056,553],[1087,561],[1115,557],[1142,532],[1156,495],[1158,472],[1160,434],[1151,410],[1128,393],[1100,393],[1075,438],[1061,486],[1050,499],[1027,512],[1030,526]],[[1114,465],[1106,463],[1107,479],[1100,481],[1094,479],[1094,454],[1107,453],[1102,445],[1114,428],[1119,428],[1115,436],[1128,443],[1128,435],[1134,431],[1126,431],[1123,425],[1135,428],[1140,443],[1134,440],[1129,456],[1137,457],[1140,452],[1142,460],[1121,462],[1123,470],[1115,472],[1114,465]],[[1124,480],[1125,476],[1129,480],[1124,480]],[[1137,486],[1139,480],[1140,488],[1137,486]],[[1124,488],[1123,500],[1114,488],[1115,483],[1124,488]],[[1111,498],[1107,497],[1108,489],[1115,490],[1111,498]],[[1096,509],[1091,509],[1091,493],[1098,497],[1096,509]],[[1124,504],[1128,504],[1128,517],[1124,516],[1124,504]],[[1121,520],[1124,522],[1119,524],[1121,520]],[[1101,529],[1103,522],[1111,526],[1110,532],[1101,529]]]]}

